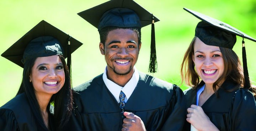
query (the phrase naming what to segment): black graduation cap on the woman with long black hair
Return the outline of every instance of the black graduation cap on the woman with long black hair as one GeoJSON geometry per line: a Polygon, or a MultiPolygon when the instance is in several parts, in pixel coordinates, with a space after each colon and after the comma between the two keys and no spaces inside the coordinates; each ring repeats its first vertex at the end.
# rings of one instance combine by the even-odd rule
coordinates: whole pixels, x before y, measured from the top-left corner
{"type": "Polygon", "coordinates": [[[81,45],[78,40],[42,20],[1,56],[23,68],[23,64],[30,58],[63,55],[68,57],[70,69],[71,53],[81,45]]]}

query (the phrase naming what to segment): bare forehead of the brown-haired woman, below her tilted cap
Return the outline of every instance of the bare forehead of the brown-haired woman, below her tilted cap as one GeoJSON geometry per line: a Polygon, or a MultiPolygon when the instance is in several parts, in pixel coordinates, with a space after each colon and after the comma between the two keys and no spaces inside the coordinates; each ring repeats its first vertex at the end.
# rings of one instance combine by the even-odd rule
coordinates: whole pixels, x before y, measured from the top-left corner
{"type": "Polygon", "coordinates": [[[220,51],[220,48],[218,46],[206,45],[199,38],[196,38],[194,41],[194,52],[196,51],[207,52],[207,51],[216,51],[216,50],[220,51]]]}

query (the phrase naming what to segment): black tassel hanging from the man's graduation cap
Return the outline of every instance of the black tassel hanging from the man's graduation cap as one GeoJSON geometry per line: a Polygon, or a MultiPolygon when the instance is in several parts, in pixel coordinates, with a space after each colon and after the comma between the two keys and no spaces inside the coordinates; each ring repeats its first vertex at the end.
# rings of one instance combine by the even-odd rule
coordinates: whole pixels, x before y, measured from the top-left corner
{"type": "Polygon", "coordinates": [[[157,67],[157,61],[156,61],[155,25],[154,25],[154,16],[152,14],[149,72],[156,73],[157,70],[158,70],[158,67],[157,67]]]}

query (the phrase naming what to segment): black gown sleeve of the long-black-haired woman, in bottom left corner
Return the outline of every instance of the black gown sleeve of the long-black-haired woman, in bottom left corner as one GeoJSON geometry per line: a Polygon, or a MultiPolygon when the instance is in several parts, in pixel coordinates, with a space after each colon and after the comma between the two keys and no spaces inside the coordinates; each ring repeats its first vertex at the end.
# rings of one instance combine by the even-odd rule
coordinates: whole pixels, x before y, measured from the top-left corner
{"type": "Polygon", "coordinates": [[[20,131],[15,115],[12,110],[0,109],[0,130],[20,131]]]}

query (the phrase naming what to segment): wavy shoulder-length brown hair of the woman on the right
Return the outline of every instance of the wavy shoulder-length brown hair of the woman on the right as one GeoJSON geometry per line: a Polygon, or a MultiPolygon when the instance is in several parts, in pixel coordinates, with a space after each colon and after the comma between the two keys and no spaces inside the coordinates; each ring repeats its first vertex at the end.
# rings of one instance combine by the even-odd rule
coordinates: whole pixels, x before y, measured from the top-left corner
{"type": "MultiPolygon", "coordinates": [[[[192,86],[192,89],[196,89],[201,80],[196,73],[195,70],[195,64],[193,62],[193,56],[194,56],[194,41],[197,37],[195,36],[189,45],[181,64],[181,79],[182,83],[185,80],[186,84],[189,86],[192,86]]],[[[239,60],[239,57],[236,55],[236,53],[232,49],[219,47],[220,52],[222,53],[223,60],[224,60],[224,72],[220,76],[220,78],[213,83],[213,90],[215,94],[218,96],[217,93],[217,86],[220,86],[219,84],[222,81],[229,80],[231,82],[234,82],[235,84],[238,84],[239,86],[244,86],[244,73],[241,66],[241,62],[239,60]]],[[[231,90],[233,91],[239,88],[234,87],[231,90]]]]}

